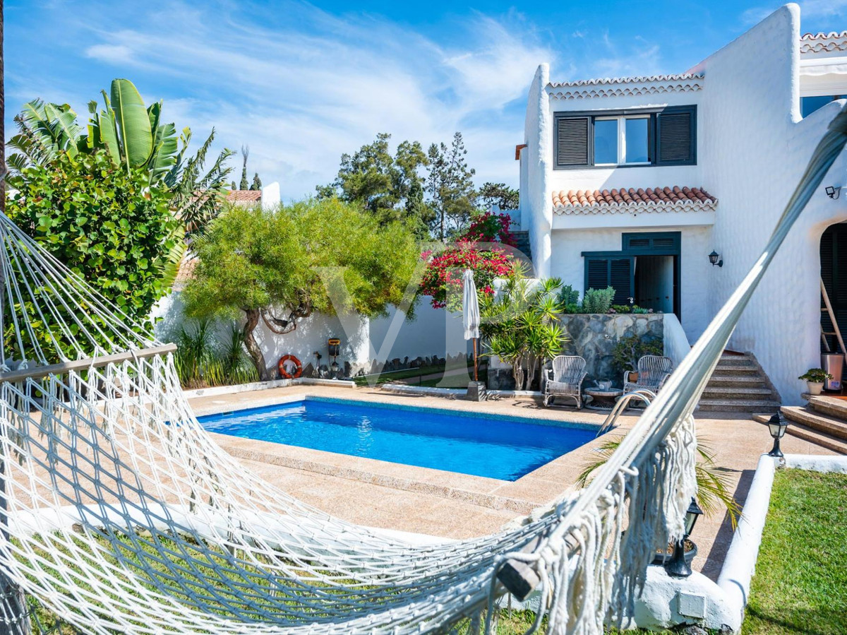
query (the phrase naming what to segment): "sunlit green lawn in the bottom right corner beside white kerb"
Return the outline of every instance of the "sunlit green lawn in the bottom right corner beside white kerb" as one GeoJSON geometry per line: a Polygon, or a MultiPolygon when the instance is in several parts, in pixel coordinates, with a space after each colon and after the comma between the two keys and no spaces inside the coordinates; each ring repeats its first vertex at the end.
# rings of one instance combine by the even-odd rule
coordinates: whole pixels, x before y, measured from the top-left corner
{"type": "Polygon", "coordinates": [[[847,633],[847,475],[778,470],[743,635],[847,633]]]}

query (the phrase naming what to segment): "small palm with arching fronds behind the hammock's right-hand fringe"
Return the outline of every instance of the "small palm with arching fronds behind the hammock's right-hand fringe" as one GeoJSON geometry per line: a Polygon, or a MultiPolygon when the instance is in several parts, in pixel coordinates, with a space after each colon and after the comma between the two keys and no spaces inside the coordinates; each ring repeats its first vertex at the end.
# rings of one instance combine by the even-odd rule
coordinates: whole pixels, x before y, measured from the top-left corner
{"type": "MultiPolygon", "coordinates": [[[[595,455],[588,460],[583,471],[579,474],[577,484],[586,487],[591,480],[591,475],[597,468],[601,467],[610,459],[615,450],[623,441],[623,435],[609,437],[595,449],[595,455]]],[[[726,509],[729,521],[733,529],[738,522],[741,507],[735,502],[729,487],[732,485],[728,476],[715,465],[715,453],[712,452],[707,443],[697,437],[697,462],[695,465],[697,479],[697,502],[706,515],[712,515],[719,510],[726,509]]]]}

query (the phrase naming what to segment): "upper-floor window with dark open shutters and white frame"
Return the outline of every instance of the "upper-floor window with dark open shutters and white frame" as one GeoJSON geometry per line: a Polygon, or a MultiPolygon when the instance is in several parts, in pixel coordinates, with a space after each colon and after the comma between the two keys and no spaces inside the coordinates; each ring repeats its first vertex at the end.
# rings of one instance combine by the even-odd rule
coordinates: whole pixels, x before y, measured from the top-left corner
{"type": "Polygon", "coordinates": [[[696,106],[556,114],[556,167],[696,164],[696,106]]]}

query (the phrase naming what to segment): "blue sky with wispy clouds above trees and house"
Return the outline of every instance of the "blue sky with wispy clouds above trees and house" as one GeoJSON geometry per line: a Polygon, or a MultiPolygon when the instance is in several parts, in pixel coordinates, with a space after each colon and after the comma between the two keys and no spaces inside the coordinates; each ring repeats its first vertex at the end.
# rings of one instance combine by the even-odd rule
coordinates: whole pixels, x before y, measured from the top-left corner
{"type": "MultiPolygon", "coordinates": [[[[682,72],[779,2],[7,0],[6,126],[33,97],[86,113],[114,77],[164,99],[195,141],[250,147],[250,170],[300,198],[343,152],[462,131],[477,181],[517,185],[526,89],[682,72]]],[[[803,31],[847,29],[847,0],[800,3],[803,31]]],[[[237,175],[236,175],[237,178],[237,175]]]]}

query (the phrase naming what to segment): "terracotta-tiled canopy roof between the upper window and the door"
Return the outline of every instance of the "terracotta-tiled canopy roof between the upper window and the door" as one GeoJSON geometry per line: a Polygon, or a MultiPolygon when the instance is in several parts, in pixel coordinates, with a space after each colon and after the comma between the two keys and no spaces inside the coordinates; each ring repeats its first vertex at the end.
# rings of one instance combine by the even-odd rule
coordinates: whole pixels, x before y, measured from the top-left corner
{"type": "Polygon", "coordinates": [[[552,193],[556,214],[636,214],[712,211],[717,198],[699,187],[569,190],[552,193]]]}

